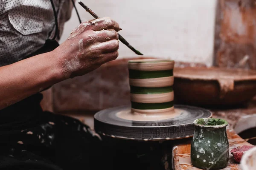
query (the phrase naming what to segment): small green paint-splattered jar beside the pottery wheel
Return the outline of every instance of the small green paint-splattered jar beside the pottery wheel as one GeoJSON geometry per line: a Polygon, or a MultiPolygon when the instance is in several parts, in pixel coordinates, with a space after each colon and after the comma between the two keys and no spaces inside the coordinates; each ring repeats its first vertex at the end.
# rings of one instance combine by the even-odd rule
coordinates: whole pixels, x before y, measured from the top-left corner
{"type": "Polygon", "coordinates": [[[196,119],[194,125],[194,136],[191,142],[193,166],[210,170],[226,167],[229,158],[227,121],[203,118],[196,119]]]}

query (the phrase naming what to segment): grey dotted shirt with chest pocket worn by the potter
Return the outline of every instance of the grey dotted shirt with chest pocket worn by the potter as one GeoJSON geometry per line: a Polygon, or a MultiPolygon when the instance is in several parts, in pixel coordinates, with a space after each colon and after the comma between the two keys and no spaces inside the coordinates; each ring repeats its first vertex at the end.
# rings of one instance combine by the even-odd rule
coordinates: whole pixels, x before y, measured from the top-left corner
{"type": "MultiPolygon", "coordinates": [[[[70,19],[71,0],[53,0],[59,40],[70,19]]],[[[0,0],[0,66],[20,61],[41,48],[55,33],[50,0],[0,0]]]]}

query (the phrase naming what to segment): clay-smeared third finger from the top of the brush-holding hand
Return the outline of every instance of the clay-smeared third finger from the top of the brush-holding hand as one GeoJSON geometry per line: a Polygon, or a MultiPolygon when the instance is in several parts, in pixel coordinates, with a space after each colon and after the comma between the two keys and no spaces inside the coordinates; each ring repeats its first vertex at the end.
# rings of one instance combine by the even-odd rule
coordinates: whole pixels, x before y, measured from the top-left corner
{"type": "Polygon", "coordinates": [[[87,48],[87,53],[89,55],[95,56],[95,55],[110,53],[118,49],[119,49],[119,41],[109,40],[106,42],[90,45],[90,47],[87,48]]]}

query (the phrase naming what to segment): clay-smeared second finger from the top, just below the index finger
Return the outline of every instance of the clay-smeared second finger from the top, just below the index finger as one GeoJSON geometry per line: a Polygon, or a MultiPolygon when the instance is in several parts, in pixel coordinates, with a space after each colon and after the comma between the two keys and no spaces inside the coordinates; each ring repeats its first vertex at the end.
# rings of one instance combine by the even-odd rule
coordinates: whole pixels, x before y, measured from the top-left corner
{"type": "Polygon", "coordinates": [[[87,36],[87,42],[106,42],[109,40],[118,40],[118,33],[114,30],[93,31],[93,34],[87,36]]]}

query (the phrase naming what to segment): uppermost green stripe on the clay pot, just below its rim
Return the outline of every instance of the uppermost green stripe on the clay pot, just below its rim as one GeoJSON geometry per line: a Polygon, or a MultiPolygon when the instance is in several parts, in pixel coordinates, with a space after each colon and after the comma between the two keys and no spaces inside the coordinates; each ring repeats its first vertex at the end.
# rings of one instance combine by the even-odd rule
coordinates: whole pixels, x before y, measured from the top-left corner
{"type": "Polygon", "coordinates": [[[173,76],[173,70],[163,71],[139,71],[129,69],[130,79],[152,79],[160,77],[171,77],[173,76]]]}

